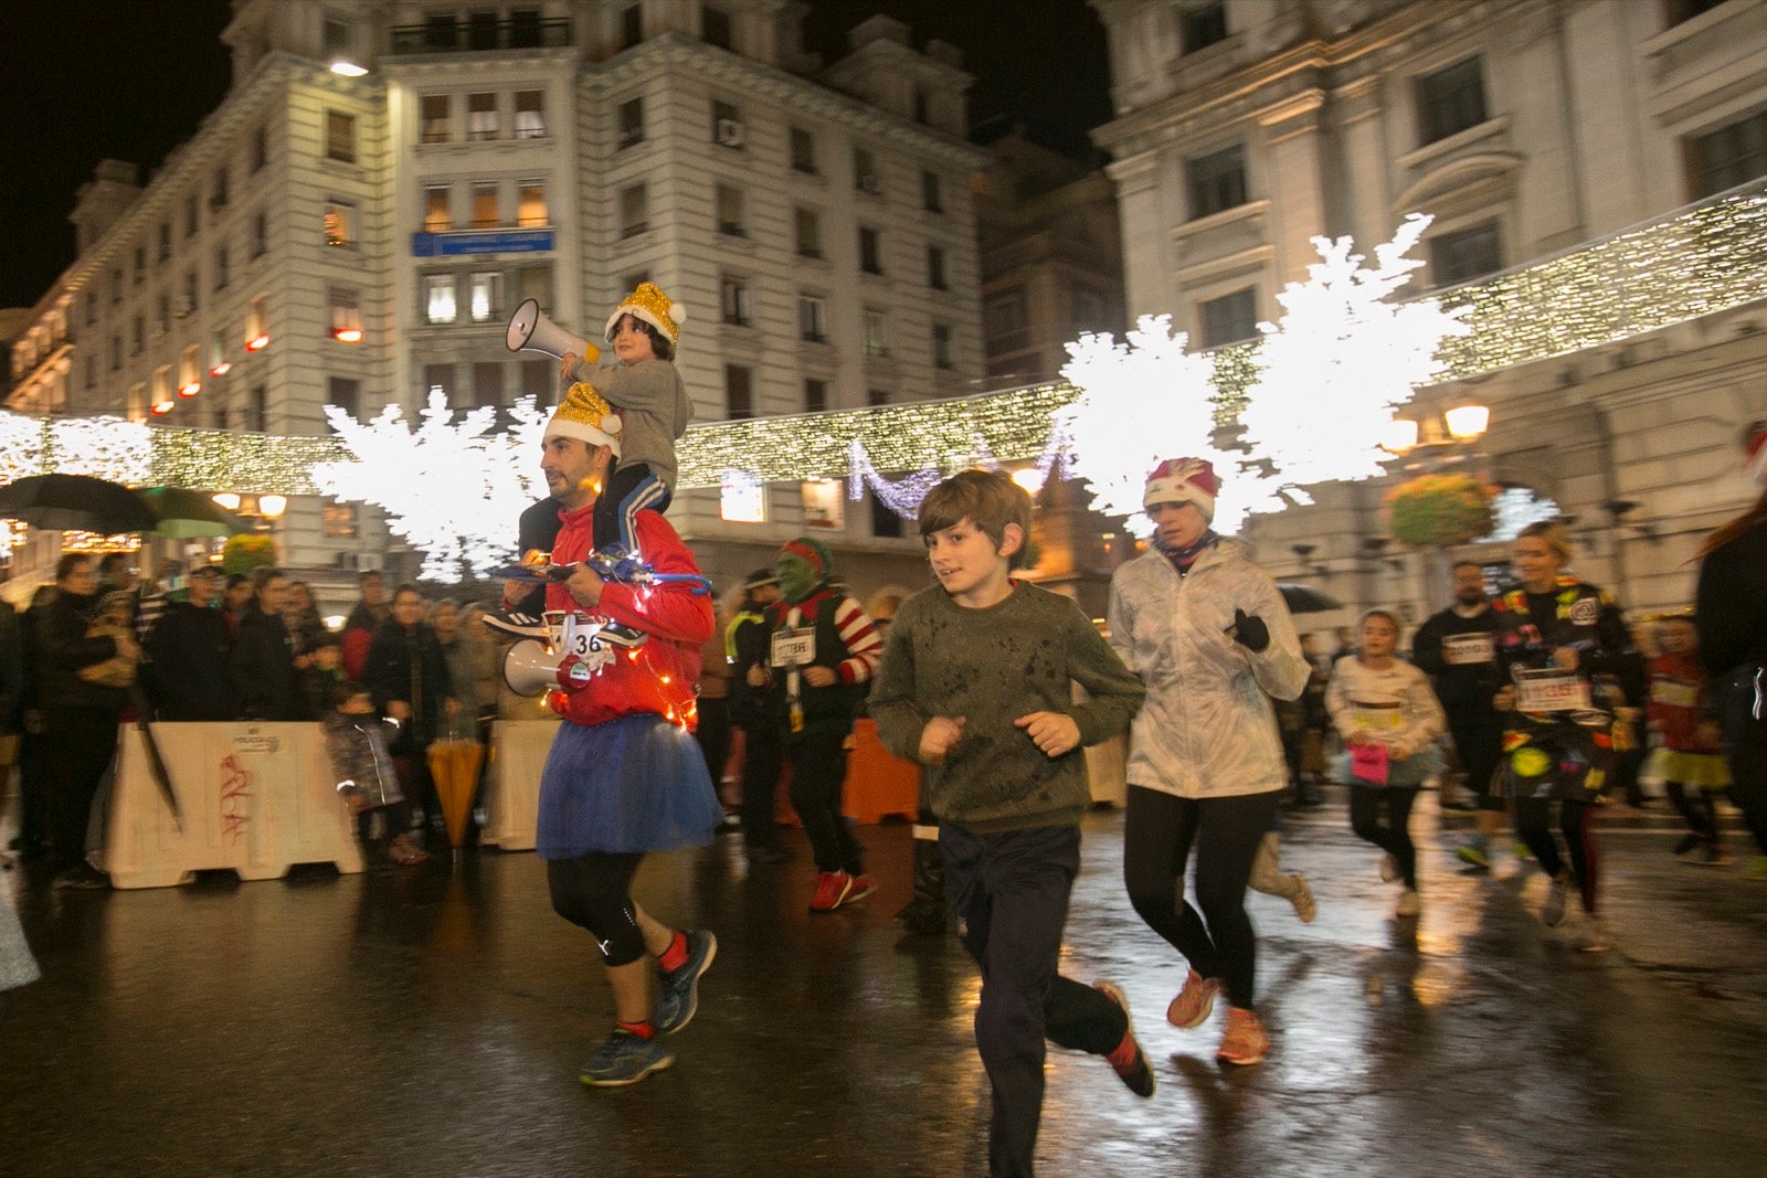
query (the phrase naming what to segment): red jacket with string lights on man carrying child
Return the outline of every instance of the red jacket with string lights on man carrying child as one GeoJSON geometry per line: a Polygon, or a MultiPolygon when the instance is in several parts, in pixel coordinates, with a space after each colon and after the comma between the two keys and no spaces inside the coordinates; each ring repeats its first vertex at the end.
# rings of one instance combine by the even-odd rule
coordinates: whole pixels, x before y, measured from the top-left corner
{"type": "MultiPolygon", "coordinates": [[[[553,540],[553,563],[574,563],[594,551],[592,514],[594,505],[558,512],[564,526],[553,540]]],[[[656,572],[700,572],[675,528],[654,510],[638,512],[638,551],[656,572]]],[[[694,728],[698,715],[693,685],[700,676],[700,646],[716,625],[710,595],[694,593],[691,585],[634,586],[610,581],[601,592],[601,604],[587,609],[562,585],[548,585],[546,608],[588,613],[650,634],[650,641],[641,646],[613,646],[613,661],[581,691],[553,692],[553,712],[583,726],[654,712],[689,731],[694,728]]]]}

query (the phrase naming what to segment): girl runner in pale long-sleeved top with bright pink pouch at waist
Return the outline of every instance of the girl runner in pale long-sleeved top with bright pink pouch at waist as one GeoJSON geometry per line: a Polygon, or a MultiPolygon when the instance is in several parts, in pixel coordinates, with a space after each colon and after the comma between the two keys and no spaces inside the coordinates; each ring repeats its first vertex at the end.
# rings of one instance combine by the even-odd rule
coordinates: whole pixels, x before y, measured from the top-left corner
{"type": "Polygon", "coordinates": [[[1350,828],[1385,851],[1380,878],[1405,885],[1394,915],[1415,917],[1421,902],[1412,802],[1424,781],[1444,768],[1435,742],[1447,721],[1424,673],[1392,653],[1399,643],[1398,618],[1369,609],[1359,629],[1357,653],[1338,659],[1325,689],[1325,710],[1345,744],[1336,777],[1350,782],[1350,828]]]}

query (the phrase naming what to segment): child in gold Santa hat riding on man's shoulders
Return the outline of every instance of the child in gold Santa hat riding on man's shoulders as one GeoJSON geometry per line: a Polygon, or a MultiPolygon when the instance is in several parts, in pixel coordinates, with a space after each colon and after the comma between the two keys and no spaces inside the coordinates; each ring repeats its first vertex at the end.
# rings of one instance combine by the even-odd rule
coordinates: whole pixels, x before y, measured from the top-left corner
{"type": "Polygon", "coordinates": [[[686,307],[670,302],[654,283],[640,283],[608,316],[608,343],[618,364],[595,366],[599,350],[590,357],[565,355],[560,362],[567,385],[594,387],[618,413],[620,457],[595,496],[595,535],[618,528],[618,551],[603,547],[610,556],[641,558],[634,532],[638,512],[661,514],[675,495],[675,438],[693,420],[693,399],[673,364],[686,318],[686,307]]]}

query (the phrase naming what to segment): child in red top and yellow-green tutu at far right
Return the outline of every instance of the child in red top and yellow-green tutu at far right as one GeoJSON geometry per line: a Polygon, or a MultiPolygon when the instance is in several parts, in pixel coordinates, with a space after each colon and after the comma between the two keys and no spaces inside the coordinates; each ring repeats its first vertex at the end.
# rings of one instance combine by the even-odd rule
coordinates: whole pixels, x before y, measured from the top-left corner
{"type": "Polygon", "coordinates": [[[1675,842],[1675,855],[1698,850],[1709,867],[1733,862],[1718,834],[1714,795],[1730,788],[1725,742],[1718,717],[1707,714],[1705,671],[1700,668],[1700,634],[1693,618],[1663,618],[1657,623],[1663,653],[1650,661],[1650,731],[1663,738],[1650,754],[1647,775],[1659,777],[1668,800],[1687,823],[1687,835],[1675,842]]]}

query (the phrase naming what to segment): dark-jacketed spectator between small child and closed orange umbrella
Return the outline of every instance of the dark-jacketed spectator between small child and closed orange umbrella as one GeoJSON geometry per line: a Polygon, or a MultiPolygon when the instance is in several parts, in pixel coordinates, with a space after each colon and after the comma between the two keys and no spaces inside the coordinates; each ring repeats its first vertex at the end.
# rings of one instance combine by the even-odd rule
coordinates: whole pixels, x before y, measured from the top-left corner
{"type": "Polygon", "coordinates": [[[428,825],[442,814],[429,777],[429,745],[442,735],[442,721],[459,712],[459,701],[454,699],[442,641],[424,622],[426,613],[417,586],[401,585],[392,595],[392,618],[368,648],[364,682],[380,714],[399,724],[399,735],[387,751],[399,765],[405,797],[422,809],[428,825]]]}

